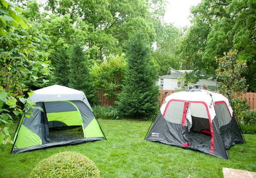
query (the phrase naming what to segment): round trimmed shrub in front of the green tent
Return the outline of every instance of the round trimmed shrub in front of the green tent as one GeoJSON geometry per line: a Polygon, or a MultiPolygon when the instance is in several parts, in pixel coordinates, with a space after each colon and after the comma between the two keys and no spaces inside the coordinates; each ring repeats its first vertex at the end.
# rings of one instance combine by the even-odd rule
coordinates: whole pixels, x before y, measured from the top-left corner
{"type": "Polygon", "coordinates": [[[30,178],[99,178],[100,171],[88,157],[77,152],[59,152],[43,159],[30,178]]]}

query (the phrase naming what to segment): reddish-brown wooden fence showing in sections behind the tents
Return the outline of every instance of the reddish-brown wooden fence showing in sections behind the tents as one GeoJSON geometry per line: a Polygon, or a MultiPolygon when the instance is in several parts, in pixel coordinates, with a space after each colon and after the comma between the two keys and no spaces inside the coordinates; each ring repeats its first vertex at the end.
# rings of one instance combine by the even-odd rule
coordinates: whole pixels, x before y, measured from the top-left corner
{"type": "MultiPolygon", "coordinates": [[[[166,96],[169,96],[170,94],[172,94],[173,92],[176,92],[176,91],[172,91],[172,90],[159,90],[160,92],[160,95],[158,96],[159,98],[159,102],[158,102],[158,105],[162,105],[164,100],[164,95],[166,93],[166,96]],[[163,102],[161,102],[163,100],[163,102]]],[[[101,91],[101,92],[97,92],[97,96],[99,98],[99,100],[101,101],[101,105],[114,105],[113,102],[109,101],[106,99],[106,97],[104,96],[104,92],[101,91]]],[[[243,94],[240,98],[244,98],[244,97],[247,97],[247,104],[250,106],[251,109],[255,109],[256,108],[256,99],[255,99],[255,96],[256,96],[256,93],[246,93],[246,94],[243,94]]],[[[161,106],[160,105],[160,106],[161,106]]]]}

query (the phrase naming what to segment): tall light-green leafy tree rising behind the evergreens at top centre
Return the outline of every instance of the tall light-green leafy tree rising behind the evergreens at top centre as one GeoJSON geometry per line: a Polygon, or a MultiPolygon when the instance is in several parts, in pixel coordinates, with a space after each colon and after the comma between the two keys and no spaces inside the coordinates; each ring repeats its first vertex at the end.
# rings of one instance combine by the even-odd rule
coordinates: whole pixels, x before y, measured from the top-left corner
{"type": "Polygon", "coordinates": [[[153,42],[149,17],[163,16],[163,7],[164,0],[47,0],[45,10],[59,17],[69,14],[74,25],[78,19],[83,21],[88,30],[86,54],[103,61],[109,55],[120,55],[123,44],[137,30],[153,42]]]}

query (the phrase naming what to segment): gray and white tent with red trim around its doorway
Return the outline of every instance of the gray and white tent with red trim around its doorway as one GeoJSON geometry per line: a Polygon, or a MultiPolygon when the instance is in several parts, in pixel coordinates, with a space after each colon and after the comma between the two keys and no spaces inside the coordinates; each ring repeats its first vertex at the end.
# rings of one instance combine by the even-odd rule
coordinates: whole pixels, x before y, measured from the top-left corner
{"type": "Polygon", "coordinates": [[[245,143],[228,98],[200,87],[167,96],[145,139],[223,159],[245,143]]]}

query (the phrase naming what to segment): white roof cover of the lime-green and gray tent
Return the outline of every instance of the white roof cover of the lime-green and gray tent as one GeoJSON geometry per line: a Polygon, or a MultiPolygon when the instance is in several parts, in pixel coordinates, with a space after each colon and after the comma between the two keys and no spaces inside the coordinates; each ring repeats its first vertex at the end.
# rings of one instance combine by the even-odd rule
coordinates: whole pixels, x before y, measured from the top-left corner
{"type": "Polygon", "coordinates": [[[39,101],[80,100],[85,102],[85,104],[90,107],[90,104],[83,91],[71,89],[69,87],[64,87],[60,85],[52,85],[49,87],[35,90],[34,94],[32,94],[30,98],[35,103],[39,101]]]}

